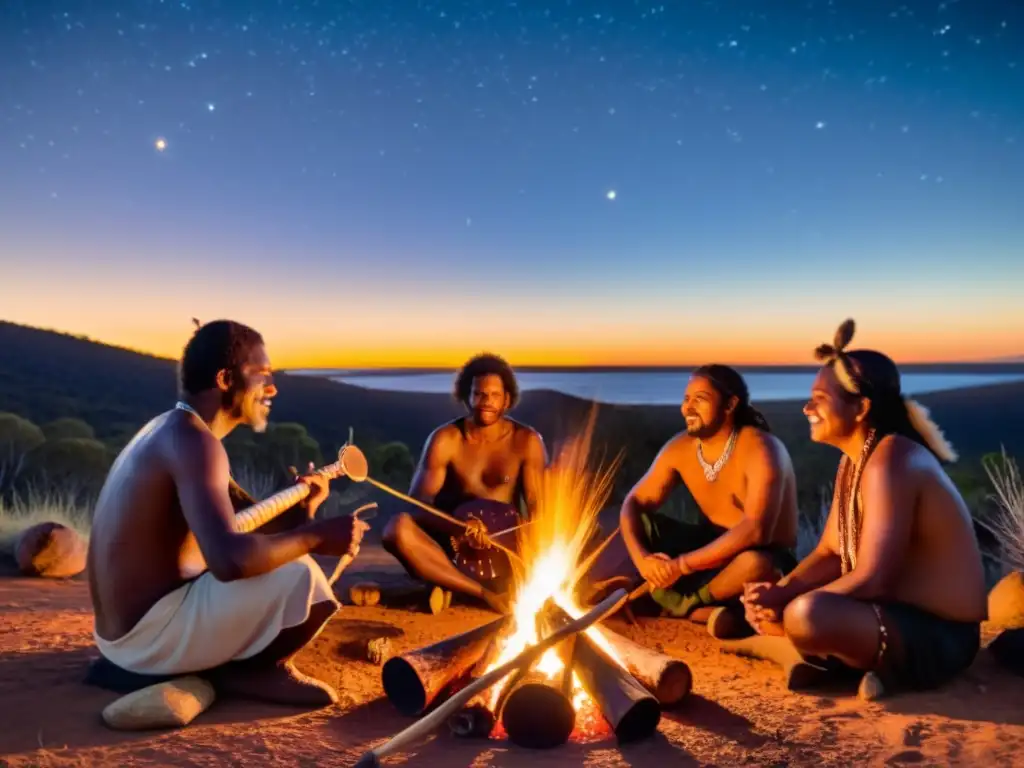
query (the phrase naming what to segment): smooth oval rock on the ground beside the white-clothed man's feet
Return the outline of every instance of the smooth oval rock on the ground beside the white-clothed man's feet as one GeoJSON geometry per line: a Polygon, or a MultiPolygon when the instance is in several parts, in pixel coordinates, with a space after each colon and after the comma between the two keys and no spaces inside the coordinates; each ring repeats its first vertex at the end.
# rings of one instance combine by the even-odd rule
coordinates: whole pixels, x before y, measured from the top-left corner
{"type": "Polygon", "coordinates": [[[206,712],[216,694],[202,678],[189,676],[129,693],[103,709],[108,727],[122,731],[181,728],[206,712]]]}

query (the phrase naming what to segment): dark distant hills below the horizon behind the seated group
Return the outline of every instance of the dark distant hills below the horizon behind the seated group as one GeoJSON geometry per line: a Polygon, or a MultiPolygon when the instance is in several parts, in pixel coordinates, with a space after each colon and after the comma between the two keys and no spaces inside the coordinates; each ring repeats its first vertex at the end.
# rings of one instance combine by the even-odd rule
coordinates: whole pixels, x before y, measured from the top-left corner
{"type": "MultiPolygon", "coordinates": [[[[0,322],[0,411],[18,413],[36,423],[78,417],[91,424],[100,438],[125,439],[174,403],[175,365],[68,334],[0,322]]],[[[325,450],[344,442],[351,426],[356,442],[400,440],[418,454],[434,427],[462,413],[446,395],[377,391],[312,376],[280,374],[278,387],[272,419],[304,424],[325,450]]],[[[1024,383],[936,392],[920,399],[964,457],[997,452],[1000,444],[1024,454],[1024,383]]],[[[802,404],[763,403],[791,452],[803,451],[808,443],[802,404]]],[[[586,400],[558,392],[530,391],[523,394],[514,416],[540,429],[550,444],[579,424],[589,407],[586,400]]],[[[613,450],[628,443],[630,453],[645,454],[641,464],[648,460],[648,452],[682,427],[679,409],[662,406],[602,406],[600,423],[613,450]]],[[[829,454],[827,461],[835,457],[829,454]]],[[[636,471],[639,468],[632,470],[636,471]]]]}

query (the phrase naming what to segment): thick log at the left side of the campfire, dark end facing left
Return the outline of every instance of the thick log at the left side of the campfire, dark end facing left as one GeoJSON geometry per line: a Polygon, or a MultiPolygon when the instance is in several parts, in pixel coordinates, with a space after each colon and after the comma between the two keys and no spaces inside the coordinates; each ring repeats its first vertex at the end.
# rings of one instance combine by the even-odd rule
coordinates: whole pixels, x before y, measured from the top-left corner
{"type": "Polygon", "coordinates": [[[433,645],[392,656],[381,670],[384,693],[403,715],[423,714],[442,690],[480,659],[508,621],[508,616],[502,616],[433,645]]]}

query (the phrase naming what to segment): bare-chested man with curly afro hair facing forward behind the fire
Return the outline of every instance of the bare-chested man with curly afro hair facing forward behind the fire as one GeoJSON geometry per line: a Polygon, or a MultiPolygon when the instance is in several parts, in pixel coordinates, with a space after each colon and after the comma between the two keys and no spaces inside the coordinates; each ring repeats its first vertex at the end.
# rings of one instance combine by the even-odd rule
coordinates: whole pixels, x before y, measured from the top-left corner
{"type": "MultiPolygon", "coordinates": [[[[466,407],[469,417],[444,424],[430,434],[410,496],[449,514],[467,502],[486,500],[500,503],[488,505],[492,509],[507,506],[513,525],[521,522],[519,511],[523,506],[531,517],[547,451],[539,432],[506,416],[519,398],[511,367],[493,354],[473,357],[456,376],[455,397],[466,407]]],[[[456,547],[482,546],[483,530],[481,521],[474,521],[467,530],[413,508],[391,518],[384,530],[384,548],[410,574],[434,585],[430,594],[432,612],[447,604],[446,591],[451,590],[483,600],[504,613],[508,611],[506,585],[475,579],[454,562],[456,547]]],[[[501,542],[514,545],[515,534],[503,537],[501,542]]]]}

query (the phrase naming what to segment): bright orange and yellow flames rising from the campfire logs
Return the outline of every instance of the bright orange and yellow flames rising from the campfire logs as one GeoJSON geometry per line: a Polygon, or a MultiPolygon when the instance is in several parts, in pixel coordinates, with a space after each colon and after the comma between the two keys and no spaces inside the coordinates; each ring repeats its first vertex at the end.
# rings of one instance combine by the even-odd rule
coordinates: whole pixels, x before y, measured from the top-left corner
{"type": "MultiPolygon", "coordinates": [[[[549,599],[573,618],[586,612],[577,604],[573,595],[583,575],[578,569],[584,548],[597,528],[597,515],[611,494],[614,473],[622,458],[616,457],[607,467],[589,469],[593,428],[592,413],[584,432],[568,440],[546,469],[537,513],[529,525],[518,530],[522,564],[516,564],[518,567],[513,574],[512,630],[488,670],[505,664],[540,641],[537,615],[549,599]]],[[[623,664],[600,629],[592,626],[586,634],[611,658],[623,664]]],[[[556,649],[549,648],[534,669],[554,679],[563,672],[564,666],[556,649]]],[[[492,708],[497,706],[509,679],[490,689],[492,708]]],[[[593,706],[590,694],[574,672],[571,700],[578,714],[593,706]]]]}

